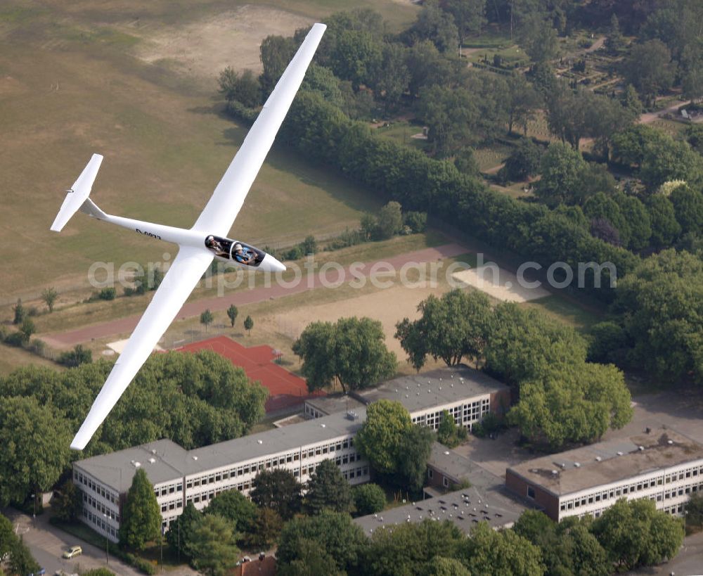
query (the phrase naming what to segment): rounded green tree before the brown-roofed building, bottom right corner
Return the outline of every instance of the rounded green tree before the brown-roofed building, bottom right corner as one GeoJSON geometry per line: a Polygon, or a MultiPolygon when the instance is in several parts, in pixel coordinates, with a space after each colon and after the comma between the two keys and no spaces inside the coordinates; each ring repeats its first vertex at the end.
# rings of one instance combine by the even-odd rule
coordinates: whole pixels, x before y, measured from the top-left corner
{"type": "Polygon", "coordinates": [[[649,499],[619,499],[593,523],[610,561],[626,570],[671,560],[683,544],[683,522],[649,499]]]}

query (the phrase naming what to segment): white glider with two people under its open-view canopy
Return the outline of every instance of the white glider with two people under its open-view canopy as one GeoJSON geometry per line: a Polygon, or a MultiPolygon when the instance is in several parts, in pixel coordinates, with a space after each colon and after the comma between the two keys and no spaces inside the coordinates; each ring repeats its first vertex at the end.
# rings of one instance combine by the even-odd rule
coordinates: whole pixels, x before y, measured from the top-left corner
{"type": "Polygon", "coordinates": [[[285,266],[263,250],[241,241],[226,238],[234,219],[242,207],[249,188],[269,153],[273,139],[283,123],[288,108],[295,98],[326,26],[315,24],[295,56],[278,80],[276,88],[266,100],[264,108],[247,134],[234,160],[229,165],[212,198],[202,210],[191,229],[151,224],[131,218],[105,214],[89,198],[93,181],[103,161],[99,154],[93,157],[67,191],[63,205],[51,225],[59,232],[72,215],[81,210],[93,218],[124,226],[138,233],[179,245],[179,252],[169,271],[139,320],[129,342],[115,362],[103,389],[93,402],[88,416],[76,434],[71,448],[84,449],[98,426],[115,406],[122,392],[148,358],[150,352],[169,327],[183,302],[207,270],[213,258],[235,262],[246,268],[270,272],[285,270],[285,266]]]}

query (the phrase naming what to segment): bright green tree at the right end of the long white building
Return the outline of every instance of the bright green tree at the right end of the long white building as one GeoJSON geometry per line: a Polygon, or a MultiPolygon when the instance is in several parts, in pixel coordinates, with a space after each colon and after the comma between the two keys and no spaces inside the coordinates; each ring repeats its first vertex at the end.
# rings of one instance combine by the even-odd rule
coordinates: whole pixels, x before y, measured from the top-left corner
{"type": "Polygon", "coordinates": [[[401,442],[412,425],[403,404],[379,400],[367,407],[366,422],[354,443],[375,471],[392,474],[398,470],[401,442]]]}

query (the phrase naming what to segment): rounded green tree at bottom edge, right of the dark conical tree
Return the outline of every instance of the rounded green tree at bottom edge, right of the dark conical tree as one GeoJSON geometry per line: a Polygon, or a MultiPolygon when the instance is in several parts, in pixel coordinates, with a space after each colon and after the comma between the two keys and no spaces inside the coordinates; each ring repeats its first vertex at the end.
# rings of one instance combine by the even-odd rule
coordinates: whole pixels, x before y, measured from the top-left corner
{"type": "Polygon", "coordinates": [[[239,554],[231,526],[224,518],[213,515],[205,516],[195,525],[187,551],[198,572],[209,576],[228,574],[239,554]]]}

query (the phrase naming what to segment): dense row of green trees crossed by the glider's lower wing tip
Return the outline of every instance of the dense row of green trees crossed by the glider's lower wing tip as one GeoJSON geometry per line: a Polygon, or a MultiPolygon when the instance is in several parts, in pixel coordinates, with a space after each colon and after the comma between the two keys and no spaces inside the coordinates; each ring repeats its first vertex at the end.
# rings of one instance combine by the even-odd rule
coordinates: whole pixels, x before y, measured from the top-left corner
{"type": "MultiPolygon", "coordinates": [[[[63,372],[25,366],[0,378],[0,504],[52,489],[76,457],[70,439],[110,369],[108,361],[63,372]]],[[[229,440],[262,418],[266,396],[214,352],[154,354],[83,455],[164,437],[186,449],[229,440]]]]}

